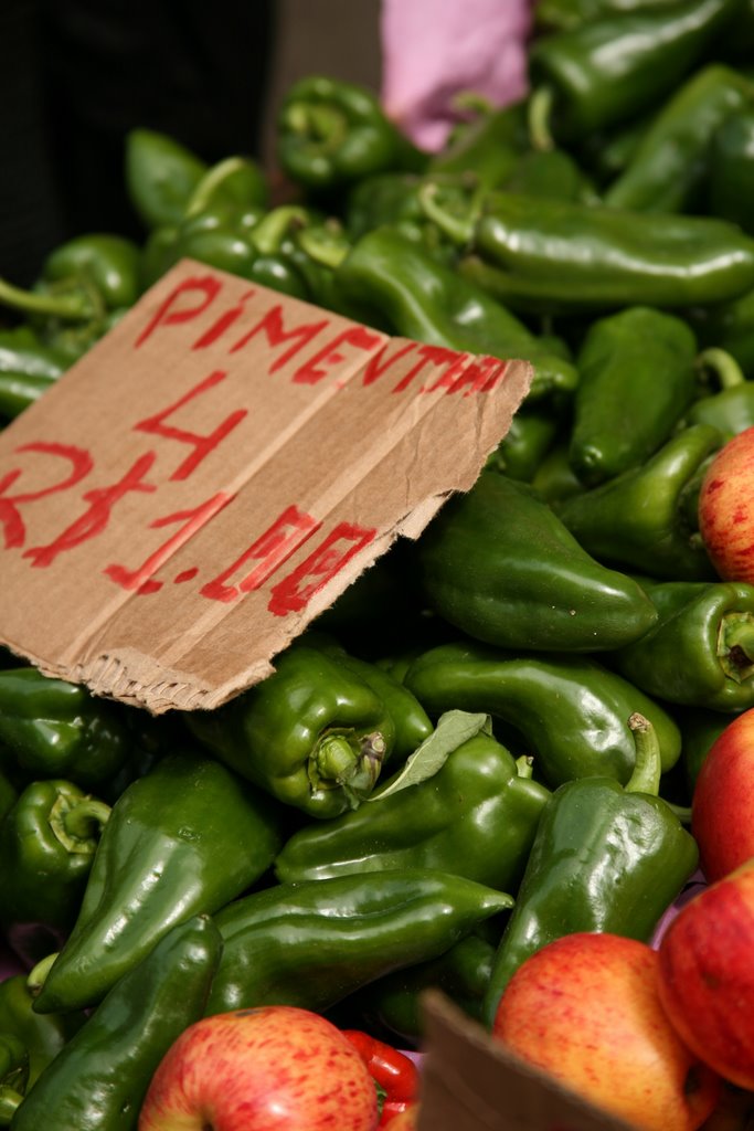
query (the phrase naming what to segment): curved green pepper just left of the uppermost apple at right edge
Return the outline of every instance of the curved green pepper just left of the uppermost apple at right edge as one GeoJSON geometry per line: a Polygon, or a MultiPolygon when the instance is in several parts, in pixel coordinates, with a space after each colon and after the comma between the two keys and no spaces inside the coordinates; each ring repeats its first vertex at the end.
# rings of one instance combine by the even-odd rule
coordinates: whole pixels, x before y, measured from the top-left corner
{"type": "Polygon", "coordinates": [[[690,425],[643,467],[552,506],[598,561],[661,580],[714,580],[695,502],[700,474],[722,441],[717,429],[690,425]]]}

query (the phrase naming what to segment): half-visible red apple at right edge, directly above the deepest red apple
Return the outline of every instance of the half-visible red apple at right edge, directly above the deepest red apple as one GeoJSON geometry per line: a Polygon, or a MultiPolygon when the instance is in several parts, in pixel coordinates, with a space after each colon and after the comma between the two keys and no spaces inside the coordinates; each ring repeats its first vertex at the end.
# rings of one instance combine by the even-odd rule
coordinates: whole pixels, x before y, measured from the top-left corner
{"type": "Polygon", "coordinates": [[[710,883],[754,856],[754,709],[731,719],[710,746],[694,786],[691,830],[710,883]]]}

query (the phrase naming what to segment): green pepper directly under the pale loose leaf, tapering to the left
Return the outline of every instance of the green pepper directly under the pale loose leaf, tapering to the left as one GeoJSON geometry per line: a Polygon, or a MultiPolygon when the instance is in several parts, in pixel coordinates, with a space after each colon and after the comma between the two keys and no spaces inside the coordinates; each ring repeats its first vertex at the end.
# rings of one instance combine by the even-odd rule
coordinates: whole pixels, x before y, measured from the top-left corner
{"type": "Polygon", "coordinates": [[[300,883],[430,867],[512,891],[548,796],[539,783],[519,775],[503,745],[478,734],[431,778],[298,829],[278,853],[275,872],[284,883],[300,883]]]}

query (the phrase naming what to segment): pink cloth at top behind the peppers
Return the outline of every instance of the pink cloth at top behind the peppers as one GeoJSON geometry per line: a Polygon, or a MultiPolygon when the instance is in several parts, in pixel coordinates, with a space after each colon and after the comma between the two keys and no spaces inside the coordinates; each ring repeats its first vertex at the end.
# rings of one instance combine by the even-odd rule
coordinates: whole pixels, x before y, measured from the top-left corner
{"type": "Polygon", "coordinates": [[[526,94],[528,0],[383,0],[381,101],[427,152],[459,120],[453,97],[473,90],[495,106],[526,94]]]}

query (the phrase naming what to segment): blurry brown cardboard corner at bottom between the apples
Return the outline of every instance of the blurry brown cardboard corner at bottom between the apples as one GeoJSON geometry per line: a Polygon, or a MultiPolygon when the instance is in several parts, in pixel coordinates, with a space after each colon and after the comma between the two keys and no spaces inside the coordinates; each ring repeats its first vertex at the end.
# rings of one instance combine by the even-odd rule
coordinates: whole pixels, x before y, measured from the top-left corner
{"type": "Polygon", "coordinates": [[[418,1131],[636,1131],[493,1042],[440,991],[422,1007],[418,1131]]]}

